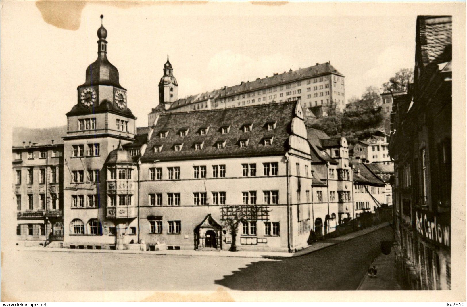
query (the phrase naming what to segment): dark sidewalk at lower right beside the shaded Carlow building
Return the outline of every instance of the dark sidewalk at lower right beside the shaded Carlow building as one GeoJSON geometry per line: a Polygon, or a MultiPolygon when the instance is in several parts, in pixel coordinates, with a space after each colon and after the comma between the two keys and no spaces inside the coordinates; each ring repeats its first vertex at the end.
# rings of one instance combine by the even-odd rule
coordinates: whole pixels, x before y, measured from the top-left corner
{"type": "Polygon", "coordinates": [[[401,290],[401,287],[397,284],[394,259],[394,248],[389,255],[379,255],[371,264],[376,266],[378,278],[372,278],[365,274],[357,290],[401,290]]]}

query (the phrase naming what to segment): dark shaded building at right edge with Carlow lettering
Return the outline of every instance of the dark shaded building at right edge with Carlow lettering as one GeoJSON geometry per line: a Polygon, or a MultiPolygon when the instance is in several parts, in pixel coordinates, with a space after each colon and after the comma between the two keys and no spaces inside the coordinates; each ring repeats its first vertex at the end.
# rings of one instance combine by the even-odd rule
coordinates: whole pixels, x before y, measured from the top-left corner
{"type": "Polygon", "coordinates": [[[452,16],[418,16],[414,83],[391,114],[396,255],[407,289],[451,289],[451,50],[452,16]]]}

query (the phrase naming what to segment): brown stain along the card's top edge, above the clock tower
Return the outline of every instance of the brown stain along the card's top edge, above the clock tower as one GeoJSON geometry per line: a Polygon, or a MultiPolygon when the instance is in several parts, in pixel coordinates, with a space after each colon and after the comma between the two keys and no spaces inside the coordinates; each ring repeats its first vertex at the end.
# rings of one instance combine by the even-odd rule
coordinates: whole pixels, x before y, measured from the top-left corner
{"type": "Polygon", "coordinates": [[[42,19],[48,24],[60,29],[73,30],[79,29],[81,24],[81,12],[87,3],[106,4],[118,8],[129,8],[147,5],[163,4],[207,4],[209,1],[64,1],[64,0],[37,0],[35,6],[41,12],[42,19]]]}

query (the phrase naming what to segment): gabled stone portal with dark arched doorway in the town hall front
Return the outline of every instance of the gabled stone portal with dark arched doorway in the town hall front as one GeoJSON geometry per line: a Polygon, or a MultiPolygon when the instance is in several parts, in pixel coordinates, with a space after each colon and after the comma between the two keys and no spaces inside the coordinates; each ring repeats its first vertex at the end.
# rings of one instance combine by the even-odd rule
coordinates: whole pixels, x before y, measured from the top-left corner
{"type": "Polygon", "coordinates": [[[195,250],[222,249],[222,226],[216,222],[211,214],[195,228],[195,250]]]}

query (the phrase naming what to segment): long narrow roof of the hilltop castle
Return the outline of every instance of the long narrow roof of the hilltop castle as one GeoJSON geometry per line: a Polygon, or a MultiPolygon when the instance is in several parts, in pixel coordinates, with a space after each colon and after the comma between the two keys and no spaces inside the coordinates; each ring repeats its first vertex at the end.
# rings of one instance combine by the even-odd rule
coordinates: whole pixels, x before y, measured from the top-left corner
{"type": "Polygon", "coordinates": [[[243,92],[255,91],[255,90],[270,87],[270,86],[277,86],[277,85],[292,82],[295,80],[310,78],[313,76],[320,76],[320,75],[328,74],[328,73],[335,73],[343,77],[343,75],[339,71],[337,71],[333,67],[333,65],[329,63],[318,64],[318,65],[310,66],[307,68],[301,68],[296,71],[289,71],[289,72],[284,71],[284,73],[276,74],[276,75],[273,75],[272,77],[266,77],[263,79],[258,78],[255,81],[251,81],[251,82],[249,81],[242,82],[241,84],[236,85],[236,86],[229,86],[229,87],[224,86],[220,89],[213,90],[210,92],[199,93],[196,95],[188,96],[186,98],[176,100],[172,104],[170,109],[181,107],[181,106],[190,104],[192,102],[204,101],[210,98],[222,98],[222,97],[227,97],[231,95],[237,95],[243,92]]]}

